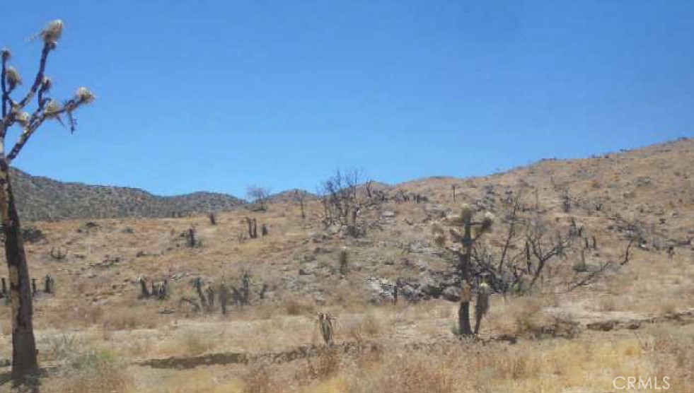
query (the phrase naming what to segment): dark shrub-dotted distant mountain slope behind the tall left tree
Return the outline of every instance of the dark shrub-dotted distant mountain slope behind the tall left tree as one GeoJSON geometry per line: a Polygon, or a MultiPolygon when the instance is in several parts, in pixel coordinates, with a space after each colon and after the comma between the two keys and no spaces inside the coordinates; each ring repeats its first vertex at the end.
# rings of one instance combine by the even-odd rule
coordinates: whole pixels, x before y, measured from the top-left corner
{"type": "Polygon", "coordinates": [[[225,211],[245,203],[227,194],[195,192],[158,197],[141,189],[59,182],[12,170],[13,190],[24,220],[186,216],[225,211]]]}

